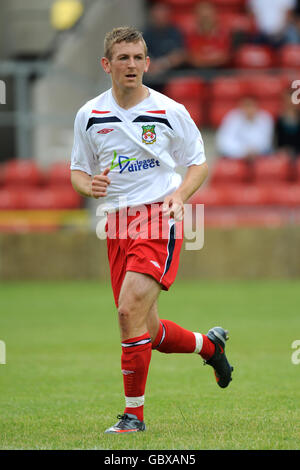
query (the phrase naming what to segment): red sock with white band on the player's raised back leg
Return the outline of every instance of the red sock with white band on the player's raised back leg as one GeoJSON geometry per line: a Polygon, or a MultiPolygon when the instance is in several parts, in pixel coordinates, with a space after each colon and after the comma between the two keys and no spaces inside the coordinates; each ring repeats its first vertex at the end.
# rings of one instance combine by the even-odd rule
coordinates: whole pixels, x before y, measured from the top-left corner
{"type": "Polygon", "coordinates": [[[152,349],[164,353],[195,352],[208,360],[215,351],[215,345],[206,335],[186,330],[170,320],[161,320],[152,349]]]}

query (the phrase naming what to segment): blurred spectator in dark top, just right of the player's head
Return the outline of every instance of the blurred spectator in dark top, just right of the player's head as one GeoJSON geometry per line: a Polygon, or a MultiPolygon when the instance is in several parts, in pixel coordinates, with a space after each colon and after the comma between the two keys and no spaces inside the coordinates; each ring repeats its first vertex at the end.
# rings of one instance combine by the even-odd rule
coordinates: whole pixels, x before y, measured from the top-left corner
{"type": "Polygon", "coordinates": [[[171,23],[170,7],[155,3],[150,9],[150,21],[143,34],[151,58],[148,74],[160,75],[184,63],[184,41],[179,29],[171,23]]]}

